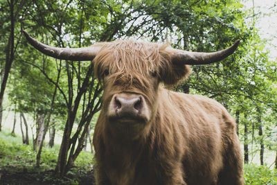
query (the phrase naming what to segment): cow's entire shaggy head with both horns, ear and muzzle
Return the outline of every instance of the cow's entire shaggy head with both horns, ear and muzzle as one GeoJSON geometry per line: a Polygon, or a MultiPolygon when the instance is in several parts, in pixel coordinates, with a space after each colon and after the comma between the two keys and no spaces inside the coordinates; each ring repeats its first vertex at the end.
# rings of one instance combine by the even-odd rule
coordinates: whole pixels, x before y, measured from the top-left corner
{"type": "Polygon", "coordinates": [[[231,55],[239,41],[214,53],[172,49],[166,44],[124,40],[81,49],[47,46],[24,32],[36,49],[65,60],[93,60],[104,88],[102,116],[111,132],[140,136],[157,111],[159,84],[174,85],[190,73],[187,64],[209,64],[231,55]]]}

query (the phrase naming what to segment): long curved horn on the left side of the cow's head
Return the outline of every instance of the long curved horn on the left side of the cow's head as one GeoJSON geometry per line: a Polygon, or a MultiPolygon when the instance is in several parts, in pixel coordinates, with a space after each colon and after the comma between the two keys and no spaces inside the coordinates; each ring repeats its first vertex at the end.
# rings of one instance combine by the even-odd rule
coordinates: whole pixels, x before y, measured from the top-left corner
{"type": "Polygon", "coordinates": [[[44,53],[45,55],[51,56],[57,59],[63,60],[75,60],[75,61],[91,61],[95,58],[100,47],[84,47],[80,49],[69,49],[69,48],[57,48],[53,46],[48,46],[43,44],[23,30],[23,33],[28,40],[28,42],[35,47],[38,51],[44,53]]]}

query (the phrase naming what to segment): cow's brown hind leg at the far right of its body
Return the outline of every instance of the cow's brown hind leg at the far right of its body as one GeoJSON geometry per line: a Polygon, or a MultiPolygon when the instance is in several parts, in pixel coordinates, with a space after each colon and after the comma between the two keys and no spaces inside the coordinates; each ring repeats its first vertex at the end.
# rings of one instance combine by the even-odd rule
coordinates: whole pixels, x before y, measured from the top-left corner
{"type": "Polygon", "coordinates": [[[225,145],[224,168],[220,172],[220,185],[243,185],[243,160],[238,136],[234,133],[225,145]]]}

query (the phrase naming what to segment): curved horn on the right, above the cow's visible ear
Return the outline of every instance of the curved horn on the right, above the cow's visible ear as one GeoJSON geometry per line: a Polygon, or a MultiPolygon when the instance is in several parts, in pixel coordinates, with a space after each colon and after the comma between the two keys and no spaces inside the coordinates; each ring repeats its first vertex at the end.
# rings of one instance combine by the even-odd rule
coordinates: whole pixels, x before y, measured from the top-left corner
{"type": "Polygon", "coordinates": [[[175,64],[211,64],[213,62],[219,62],[220,60],[223,60],[224,58],[234,53],[235,49],[238,48],[238,44],[240,44],[240,40],[235,41],[233,46],[229,47],[228,49],[216,51],[213,53],[199,53],[173,49],[171,60],[175,64]]]}

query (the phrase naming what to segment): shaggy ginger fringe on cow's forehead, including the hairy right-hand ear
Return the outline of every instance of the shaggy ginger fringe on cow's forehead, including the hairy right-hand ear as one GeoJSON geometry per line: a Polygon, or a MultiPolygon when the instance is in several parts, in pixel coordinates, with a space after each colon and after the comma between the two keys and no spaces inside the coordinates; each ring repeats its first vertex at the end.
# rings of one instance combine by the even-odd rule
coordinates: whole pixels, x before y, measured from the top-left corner
{"type": "Polygon", "coordinates": [[[137,42],[133,39],[114,42],[102,42],[96,58],[93,60],[98,79],[105,73],[115,76],[114,80],[126,79],[129,84],[134,80],[148,86],[149,76],[155,73],[166,85],[174,85],[188,76],[190,68],[182,65],[175,67],[170,60],[169,46],[149,42],[137,42]]]}

